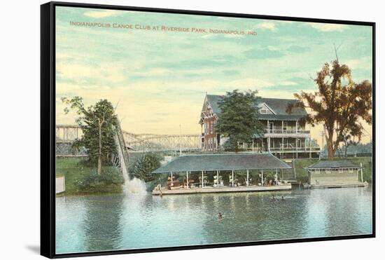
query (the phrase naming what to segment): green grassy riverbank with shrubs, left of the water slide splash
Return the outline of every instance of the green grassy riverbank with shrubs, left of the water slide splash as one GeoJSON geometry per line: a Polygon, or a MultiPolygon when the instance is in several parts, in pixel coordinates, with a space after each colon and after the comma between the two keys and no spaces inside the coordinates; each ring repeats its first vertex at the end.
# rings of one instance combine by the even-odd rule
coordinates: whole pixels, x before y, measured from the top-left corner
{"type": "Polygon", "coordinates": [[[56,177],[65,177],[66,191],[57,196],[121,193],[123,178],[115,167],[103,167],[103,176],[86,158],[57,158],[56,177]]]}

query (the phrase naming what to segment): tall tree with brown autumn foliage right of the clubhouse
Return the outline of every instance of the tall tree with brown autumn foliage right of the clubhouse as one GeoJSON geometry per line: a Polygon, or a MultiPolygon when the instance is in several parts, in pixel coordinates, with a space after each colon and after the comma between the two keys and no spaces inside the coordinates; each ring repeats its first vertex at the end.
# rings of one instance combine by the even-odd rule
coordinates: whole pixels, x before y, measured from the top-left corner
{"type": "Polygon", "coordinates": [[[295,94],[300,102],[288,106],[287,111],[296,106],[311,109],[313,113],[305,120],[313,126],[323,124],[328,159],[332,160],[339,143],[344,142],[347,135],[360,140],[363,135],[362,120],[372,123],[372,84],[367,80],[355,83],[349,67],[339,64],[338,59],[331,65],[325,63],[314,82],[318,91],[295,94]]]}

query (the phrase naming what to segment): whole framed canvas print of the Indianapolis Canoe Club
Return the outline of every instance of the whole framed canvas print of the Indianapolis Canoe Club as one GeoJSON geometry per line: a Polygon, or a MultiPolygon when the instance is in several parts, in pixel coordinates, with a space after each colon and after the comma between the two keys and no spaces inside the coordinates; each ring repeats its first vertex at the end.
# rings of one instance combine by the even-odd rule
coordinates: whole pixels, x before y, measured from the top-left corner
{"type": "Polygon", "coordinates": [[[372,238],[374,22],[41,6],[41,254],[372,238]]]}

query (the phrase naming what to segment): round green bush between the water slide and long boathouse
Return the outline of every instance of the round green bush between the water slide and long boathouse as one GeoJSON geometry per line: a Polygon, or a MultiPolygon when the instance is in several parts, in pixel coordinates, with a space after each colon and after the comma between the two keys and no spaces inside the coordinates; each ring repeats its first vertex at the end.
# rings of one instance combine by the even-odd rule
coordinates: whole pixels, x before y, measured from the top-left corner
{"type": "Polygon", "coordinates": [[[160,167],[162,158],[156,153],[146,153],[141,156],[132,166],[132,174],[144,182],[150,182],[155,179],[153,171],[160,167]]]}

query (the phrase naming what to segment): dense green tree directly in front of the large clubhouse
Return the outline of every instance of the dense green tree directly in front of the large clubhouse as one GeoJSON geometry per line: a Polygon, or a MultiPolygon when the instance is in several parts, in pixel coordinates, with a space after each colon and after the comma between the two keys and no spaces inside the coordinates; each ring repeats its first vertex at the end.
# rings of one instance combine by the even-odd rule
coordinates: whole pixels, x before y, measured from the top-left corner
{"type": "Polygon", "coordinates": [[[258,121],[257,94],[256,90],[244,93],[233,90],[219,102],[221,114],[218,115],[216,132],[228,137],[224,144],[226,150],[239,151],[239,142],[251,142],[253,135],[265,132],[265,125],[258,121]]]}

